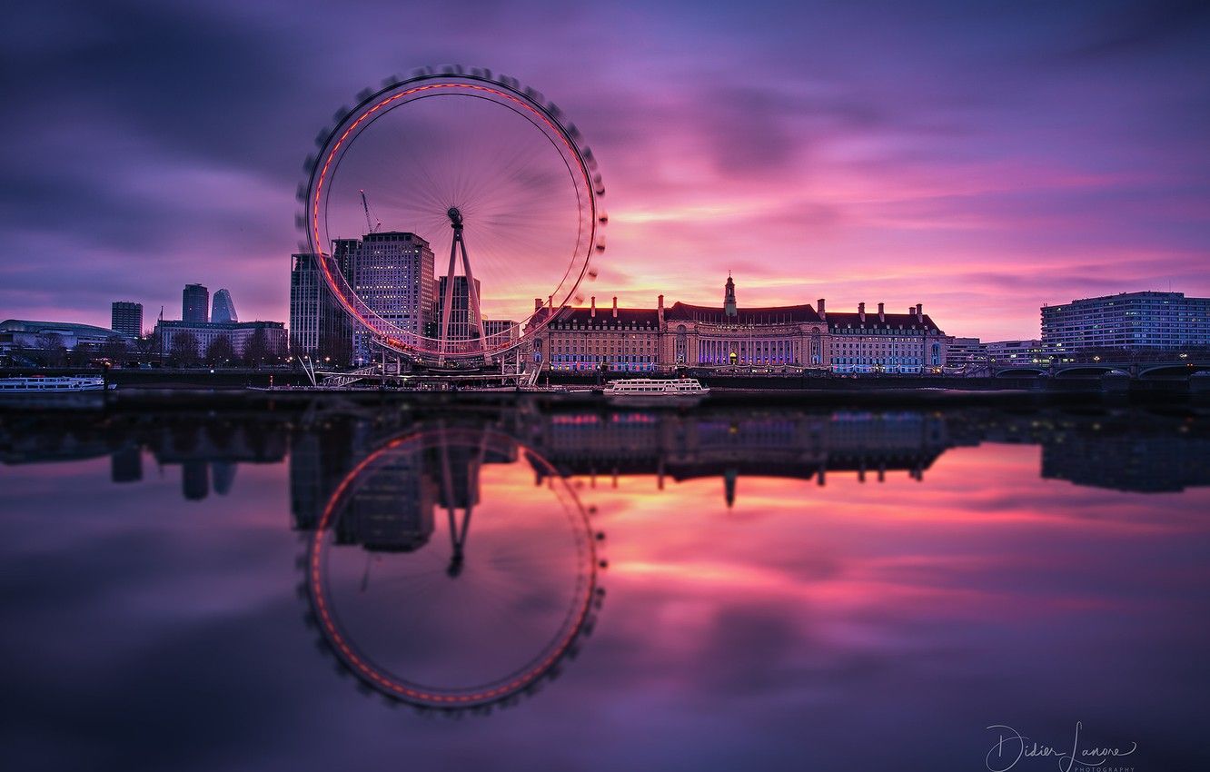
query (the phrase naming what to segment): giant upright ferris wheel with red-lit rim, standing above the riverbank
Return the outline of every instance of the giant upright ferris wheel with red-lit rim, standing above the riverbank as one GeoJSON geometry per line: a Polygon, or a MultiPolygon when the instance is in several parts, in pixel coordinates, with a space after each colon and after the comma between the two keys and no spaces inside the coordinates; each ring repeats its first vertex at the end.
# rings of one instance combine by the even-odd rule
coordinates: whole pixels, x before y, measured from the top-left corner
{"type": "Polygon", "coordinates": [[[485,69],[427,68],[358,94],[299,186],[324,283],[376,346],[490,361],[593,280],[605,186],[563,110],[485,69]]]}

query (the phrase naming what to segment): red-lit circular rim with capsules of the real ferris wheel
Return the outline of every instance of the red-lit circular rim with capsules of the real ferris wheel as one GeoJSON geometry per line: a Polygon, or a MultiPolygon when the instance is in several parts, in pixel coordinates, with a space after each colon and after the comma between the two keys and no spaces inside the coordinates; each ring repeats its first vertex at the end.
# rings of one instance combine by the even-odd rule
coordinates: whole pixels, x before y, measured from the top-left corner
{"type": "Polygon", "coordinates": [[[316,144],[319,146],[321,154],[307,159],[305,169],[309,175],[302,185],[299,186],[299,201],[304,204],[304,212],[296,218],[296,223],[305,234],[305,241],[300,243],[300,248],[316,255],[316,264],[319,267],[323,281],[332,290],[339,305],[346,313],[374,333],[375,345],[413,356],[417,359],[431,357],[449,361],[490,359],[532,340],[552,323],[558,310],[566,306],[570,300],[577,298],[576,292],[584,281],[584,277],[595,276],[594,272],[589,272],[589,266],[593,257],[601,254],[605,248],[601,230],[607,223],[607,217],[604,214],[599,201],[604,196],[605,189],[595,157],[592,150],[582,144],[583,138],[578,128],[570,121],[564,122],[561,110],[553,102],[546,103],[540,92],[523,87],[515,79],[505,75],[492,76],[490,70],[472,69],[469,73],[466,73],[461,67],[444,68],[442,71],[426,68],[426,70],[404,80],[387,79],[380,90],[374,92],[364,90],[358,94],[358,98],[359,102],[355,108],[339,110],[336,116],[334,116],[335,125],[330,129],[321,132],[316,138],[316,144]],[[415,102],[415,99],[399,102],[414,94],[424,94],[422,97],[416,97],[416,99],[450,94],[479,96],[517,113],[532,123],[552,145],[558,139],[563,149],[566,150],[565,155],[559,150],[559,145],[554,145],[560,160],[567,166],[576,192],[577,208],[581,211],[577,223],[576,247],[570,255],[563,276],[555,286],[555,292],[549,294],[548,303],[541,307],[535,307],[532,312],[517,322],[517,336],[511,340],[489,345],[491,336],[483,335],[479,339],[471,339],[471,341],[456,341],[463,344],[477,340],[478,346],[474,346],[469,351],[448,351],[444,348],[437,351],[426,347],[422,342],[417,345],[417,341],[434,339],[422,334],[408,333],[373,312],[365,306],[357,293],[347,287],[347,282],[339,281],[332,265],[334,254],[324,248],[327,232],[321,235],[321,229],[323,227],[325,231],[327,227],[327,200],[324,200],[323,204],[324,225],[321,226],[321,198],[324,195],[325,183],[329,188],[333,184],[339,159],[352,146],[352,140],[361,131],[364,131],[374,120],[392,109],[415,102]],[[505,102],[497,102],[492,97],[503,99],[505,102]],[[396,102],[398,104],[394,104],[396,102]],[[535,119],[541,121],[551,133],[547,133],[541,126],[535,123],[535,119]],[[587,215],[587,221],[584,215],[587,215]],[[583,237],[586,226],[587,238],[583,237]],[[575,275],[572,276],[574,271],[575,275]],[[570,283],[569,278],[571,280],[570,283]],[[342,283],[344,288],[341,287],[342,283]],[[555,295],[561,296],[555,298],[555,295]],[[362,307],[358,307],[358,304],[362,307]],[[541,311],[546,312],[541,313],[541,311]],[[535,319],[537,321],[535,322],[535,319]],[[409,338],[414,342],[408,342],[409,338]]]}

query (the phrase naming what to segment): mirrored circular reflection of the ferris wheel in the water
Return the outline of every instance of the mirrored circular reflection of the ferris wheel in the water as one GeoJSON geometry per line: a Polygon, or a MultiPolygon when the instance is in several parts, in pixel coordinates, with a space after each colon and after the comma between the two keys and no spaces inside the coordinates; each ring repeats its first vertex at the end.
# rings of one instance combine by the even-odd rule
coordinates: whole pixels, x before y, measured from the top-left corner
{"type": "Polygon", "coordinates": [[[575,490],[515,438],[408,432],[328,499],[301,561],[309,622],[363,689],[486,711],[578,651],[603,597],[601,538],[575,490]]]}

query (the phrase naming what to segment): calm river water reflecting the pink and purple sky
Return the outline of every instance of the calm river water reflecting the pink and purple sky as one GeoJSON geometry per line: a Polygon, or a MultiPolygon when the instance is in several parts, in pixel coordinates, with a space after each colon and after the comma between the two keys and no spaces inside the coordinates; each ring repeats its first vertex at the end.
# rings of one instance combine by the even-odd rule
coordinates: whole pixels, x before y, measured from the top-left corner
{"type": "Polygon", "coordinates": [[[0,416],[0,753],[1028,771],[1074,743],[1206,768],[1208,424],[0,416]]]}

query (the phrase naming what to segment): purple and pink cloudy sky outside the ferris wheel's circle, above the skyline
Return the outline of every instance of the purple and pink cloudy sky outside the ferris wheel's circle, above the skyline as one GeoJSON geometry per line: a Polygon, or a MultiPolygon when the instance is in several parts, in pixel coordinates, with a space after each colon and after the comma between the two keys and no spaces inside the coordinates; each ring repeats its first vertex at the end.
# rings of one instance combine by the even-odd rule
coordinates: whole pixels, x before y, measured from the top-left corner
{"type": "MultiPolygon", "coordinates": [[[[620,304],[921,303],[949,334],[1039,306],[1210,295],[1205,2],[19,4],[0,28],[0,318],[231,290],[286,321],[294,191],[391,74],[531,85],[601,163],[620,304]]],[[[540,293],[536,293],[540,294],[540,293]]]]}

